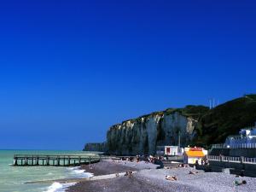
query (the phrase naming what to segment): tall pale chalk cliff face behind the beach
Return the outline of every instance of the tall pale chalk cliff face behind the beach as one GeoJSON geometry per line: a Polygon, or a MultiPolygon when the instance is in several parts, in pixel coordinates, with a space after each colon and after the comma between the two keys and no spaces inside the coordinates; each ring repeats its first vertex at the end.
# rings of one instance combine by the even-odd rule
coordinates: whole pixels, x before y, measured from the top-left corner
{"type": "Polygon", "coordinates": [[[180,134],[181,145],[190,143],[196,119],[172,113],[152,113],[113,125],[107,134],[108,150],[112,154],[155,154],[156,146],[177,145],[180,134]]]}

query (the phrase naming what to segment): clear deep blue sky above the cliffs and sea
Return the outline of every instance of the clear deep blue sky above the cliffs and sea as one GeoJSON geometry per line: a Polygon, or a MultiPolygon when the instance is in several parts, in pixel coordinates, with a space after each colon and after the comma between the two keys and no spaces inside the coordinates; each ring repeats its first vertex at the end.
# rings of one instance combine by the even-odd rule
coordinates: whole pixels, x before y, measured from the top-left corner
{"type": "Polygon", "coordinates": [[[256,92],[255,1],[6,1],[0,148],[81,149],[110,125],[256,92]]]}

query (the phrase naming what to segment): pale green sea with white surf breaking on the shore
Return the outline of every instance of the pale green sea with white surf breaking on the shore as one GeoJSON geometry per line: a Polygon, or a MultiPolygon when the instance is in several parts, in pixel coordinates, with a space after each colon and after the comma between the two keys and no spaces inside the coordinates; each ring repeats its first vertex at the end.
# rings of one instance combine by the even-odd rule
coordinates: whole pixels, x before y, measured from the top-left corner
{"type": "Polygon", "coordinates": [[[14,154],[88,154],[83,151],[0,150],[0,192],[64,192],[75,183],[26,183],[92,176],[79,167],[12,166],[14,154]]]}

